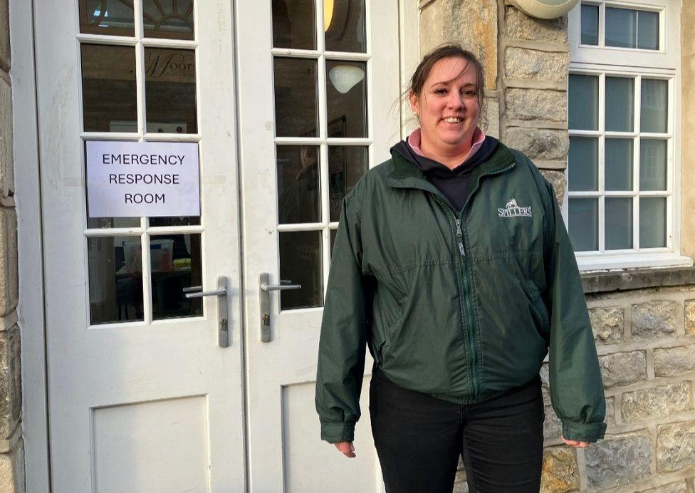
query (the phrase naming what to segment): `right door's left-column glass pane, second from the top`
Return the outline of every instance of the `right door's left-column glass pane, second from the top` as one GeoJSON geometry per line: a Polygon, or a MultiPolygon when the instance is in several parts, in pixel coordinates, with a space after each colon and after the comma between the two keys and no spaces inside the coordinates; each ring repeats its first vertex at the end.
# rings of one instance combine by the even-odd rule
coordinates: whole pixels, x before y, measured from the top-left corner
{"type": "Polygon", "coordinates": [[[316,137],[316,61],[275,58],[275,128],[278,137],[316,137]]]}

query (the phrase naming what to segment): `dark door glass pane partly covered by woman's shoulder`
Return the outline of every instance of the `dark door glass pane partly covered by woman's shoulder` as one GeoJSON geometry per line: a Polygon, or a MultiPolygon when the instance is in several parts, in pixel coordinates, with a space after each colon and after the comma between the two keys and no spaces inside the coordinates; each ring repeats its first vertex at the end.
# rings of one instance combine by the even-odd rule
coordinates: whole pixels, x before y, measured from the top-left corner
{"type": "Polygon", "coordinates": [[[328,195],[330,221],[340,219],[343,197],[352,191],[357,180],[367,172],[367,147],[361,145],[328,146],[328,195]]]}

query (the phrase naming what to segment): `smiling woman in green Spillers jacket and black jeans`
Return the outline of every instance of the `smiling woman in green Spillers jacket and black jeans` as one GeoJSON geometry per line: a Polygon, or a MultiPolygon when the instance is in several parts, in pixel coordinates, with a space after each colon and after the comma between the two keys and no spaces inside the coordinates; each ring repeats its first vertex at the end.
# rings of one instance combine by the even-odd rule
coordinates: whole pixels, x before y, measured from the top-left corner
{"type": "Polygon", "coordinates": [[[478,128],[469,51],[424,56],[409,88],[420,128],[343,202],[321,328],[316,408],[348,457],[365,344],[372,433],[387,492],[537,492],[538,376],[563,440],[603,437],[605,400],[582,284],[553,187],[478,128]]]}

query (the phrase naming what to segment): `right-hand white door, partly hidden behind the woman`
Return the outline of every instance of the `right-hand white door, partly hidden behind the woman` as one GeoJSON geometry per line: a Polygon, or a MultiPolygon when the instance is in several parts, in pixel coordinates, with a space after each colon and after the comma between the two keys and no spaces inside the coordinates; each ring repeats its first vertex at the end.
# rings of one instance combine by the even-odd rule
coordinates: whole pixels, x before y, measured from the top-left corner
{"type": "MultiPolygon", "coordinates": [[[[397,0],[238,3],[254,492],[381,489],[367,411],[369,378],[355,460],[320,441],[314,380],[330,246],[343,197],[399,140],[398,19],[397,0]],[[263,273],[271,285],[282,280],[301,289],[271,291],[266,311],[259,289],[263,273]]],[[[370,370],[368,360],[367,375],[370,370]]]]}

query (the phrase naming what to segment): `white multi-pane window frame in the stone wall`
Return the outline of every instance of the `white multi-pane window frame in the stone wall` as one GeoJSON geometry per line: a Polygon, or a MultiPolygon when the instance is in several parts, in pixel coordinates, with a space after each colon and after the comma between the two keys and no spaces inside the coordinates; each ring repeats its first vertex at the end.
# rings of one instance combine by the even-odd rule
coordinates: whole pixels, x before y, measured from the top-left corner
{"type": "MultiPolygon", "coordinates": [[[[568,224],[568,199],[572,197],[598,197],[598,251],[575,253],[580,270],[627,269],[634,267],[687,266],[692,265],[689,257],[680,254],[680,50],[676,43],[679,31],[679,5],[676,0],[584,0],[568,15],[570,41],[570,74],[598,76],[599,78],[599,122],[597,130],[569,130],[570,136],[597,137],[598,144],[598,190],[595,192],[565,193],[563,217],[568,224]],[[580,43],[581,4],[599,6],[599,44],[580,43]],[[603,46],[605,32],[605,8],[615,6],[629,9],[659,11],[659,50],[639,48],[614,48],[603,46]],[[616,64],[629,61],[629,66],[616,64]],[[633,132],[605,132],[605,78],[607,76],[634,78],[634,121],[633,132]],[[667,133],[638,133],[641,105],[642,78],[661,78],[669,81],[669,108],[667,133]],[[667,190],[665,192],[639,192],[639,142],[643,137],[667,139],[667,190]],[[605,192],[604,152],[606,137],[626,137],[634,140],[633,191],[605,192]],[[656,195],[667,197],[667,246],[653,249],[605,250],[605,197],[632,197],[633,246],[639,245],[639,197],[656,195]]],[[[565,171],[568,176],[568,171],[565,171]]],[[[569,224],[568,224],[569,227],[569,224]]]]}

